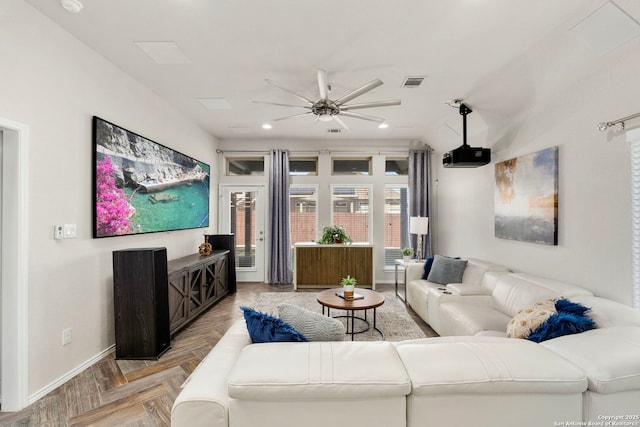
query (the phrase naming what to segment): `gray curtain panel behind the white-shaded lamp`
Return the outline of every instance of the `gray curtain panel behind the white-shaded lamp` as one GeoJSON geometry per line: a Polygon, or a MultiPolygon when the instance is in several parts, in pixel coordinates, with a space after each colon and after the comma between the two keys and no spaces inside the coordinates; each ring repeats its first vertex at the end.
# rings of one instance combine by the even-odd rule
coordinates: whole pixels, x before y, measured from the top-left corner
{"type": "MultiPolygon", "coordinates": [[[[409,151],[409,216],[429,217],[429,233],[422,236],[422,253],[416,254],[423,259],[432,255],[431,251],[431,149],[409,151]]],[[[411,235],[411,246],[417,248],[418,236],[411,235]]]]}

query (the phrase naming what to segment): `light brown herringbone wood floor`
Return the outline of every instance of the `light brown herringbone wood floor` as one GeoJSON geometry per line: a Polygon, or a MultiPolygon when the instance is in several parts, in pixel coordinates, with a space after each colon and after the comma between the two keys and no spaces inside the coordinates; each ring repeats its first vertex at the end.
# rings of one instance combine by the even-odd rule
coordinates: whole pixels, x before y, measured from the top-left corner
{"type": "MultiPolygon", "coordinates": [[[[380,291],[391,285],[378,285],[380,291]]],[[[240,283],[179,332],[158,361],[115,360],[113,353],[20,412],[0,412],[0,426],[168,426],[180,386],[238,318],[241,305],[262,292],[292,291],[291,285],[240,283]]],[[[433,330],[407,309],[427,336],[433,330]]]]}

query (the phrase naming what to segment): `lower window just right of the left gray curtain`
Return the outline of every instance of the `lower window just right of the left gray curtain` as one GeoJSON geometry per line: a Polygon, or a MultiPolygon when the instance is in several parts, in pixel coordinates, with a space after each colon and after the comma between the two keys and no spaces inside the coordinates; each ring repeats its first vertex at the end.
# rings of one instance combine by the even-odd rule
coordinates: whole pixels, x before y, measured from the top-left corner
{"type": "Polygon", "coordinates": [[[289,217],[291,223],[291,245],[299,242],[314,242],[317,238],[318,188],[294,186],[289,189],[289,217]]]}

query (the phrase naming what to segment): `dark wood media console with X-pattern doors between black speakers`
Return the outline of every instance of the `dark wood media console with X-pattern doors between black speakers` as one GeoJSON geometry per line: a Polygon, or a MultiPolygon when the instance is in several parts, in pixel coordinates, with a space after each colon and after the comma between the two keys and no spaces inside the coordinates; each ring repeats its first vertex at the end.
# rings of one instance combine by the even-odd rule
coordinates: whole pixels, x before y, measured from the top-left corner
{"type": "Polygon", "coordinates": [[[228,250],[169,261],[169,329],[172,336],[229,293],[228,269],[228,250]]]}

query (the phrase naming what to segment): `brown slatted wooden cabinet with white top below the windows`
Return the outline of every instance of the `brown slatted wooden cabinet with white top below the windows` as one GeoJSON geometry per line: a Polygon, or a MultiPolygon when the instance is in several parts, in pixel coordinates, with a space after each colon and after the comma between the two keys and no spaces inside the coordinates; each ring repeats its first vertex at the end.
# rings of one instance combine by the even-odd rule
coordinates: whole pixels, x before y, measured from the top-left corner
{"type": "Polygon", "coordinates": [[[372,245],[299,243],[295,249],[295,289],[335,288],[347,275],[358,280],[356,287],[376,288],[372,245]]]}

